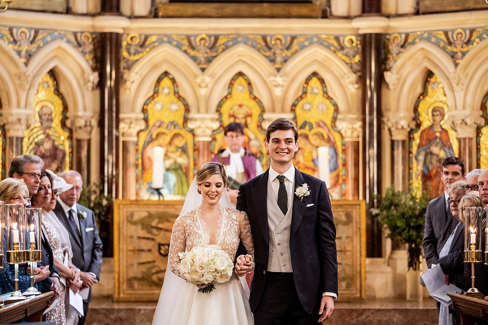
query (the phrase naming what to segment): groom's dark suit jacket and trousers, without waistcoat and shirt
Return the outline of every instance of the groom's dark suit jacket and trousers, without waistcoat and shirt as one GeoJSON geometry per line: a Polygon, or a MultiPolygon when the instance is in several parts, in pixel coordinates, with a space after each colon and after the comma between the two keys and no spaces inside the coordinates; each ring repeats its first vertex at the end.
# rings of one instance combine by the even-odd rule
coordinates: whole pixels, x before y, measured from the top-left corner
{"type": "MultiPolygon", "coordinates": [[[[254,240],[254,276],[249,305],[255,325],[317,324],[324,292],[338,293],[336,229],[325,183],[295,169],[296,187],[310,195],[293,195],[289,248],[293,272],[268,272],[269,170],[240,186],[237,210],[249,217],[254,240]]],[[[239,255],[238,252],[237,255],[239,255]]]]}

